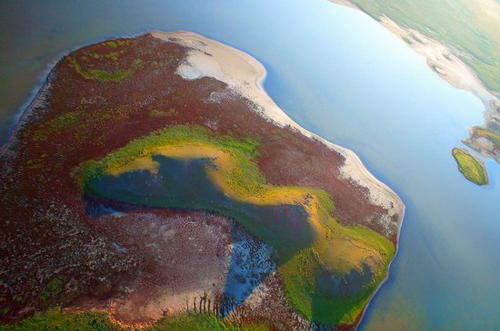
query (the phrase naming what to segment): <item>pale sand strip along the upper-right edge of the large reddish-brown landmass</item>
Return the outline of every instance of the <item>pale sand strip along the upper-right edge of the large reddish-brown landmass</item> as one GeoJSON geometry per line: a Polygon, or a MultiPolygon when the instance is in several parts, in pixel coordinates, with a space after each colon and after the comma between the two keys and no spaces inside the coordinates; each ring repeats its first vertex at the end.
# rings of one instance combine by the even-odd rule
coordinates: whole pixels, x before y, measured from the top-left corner
{"type": "Polygon", "coordinates": [[[393,190],[375,179],[353,151],[306,131],[286,115],[265,92],[263,87],[265,68],[255,58],[200,34],[185,31],[170,33],[153,31],[150,34],[156,38],[191,48],[185,63],[177,68],[177,74],[188,80],[212,77],[227,83],[230,89],[253,102],[255,112],[262,114],[269,121],[275,122],[280,127],[290,126],[307,137],[322,141],[330,149],[343,155],[345,164],[341,169],[342,174],[346,179],[353,180],[364,187],[368,192],[368,199],[373,204],[387,209],[388,213],[380,219],[387,231],[399,232],[405,214],[403,201],[393,190]],[[391,218],[398,220],[398,229],[388,229],[391,218]]]}

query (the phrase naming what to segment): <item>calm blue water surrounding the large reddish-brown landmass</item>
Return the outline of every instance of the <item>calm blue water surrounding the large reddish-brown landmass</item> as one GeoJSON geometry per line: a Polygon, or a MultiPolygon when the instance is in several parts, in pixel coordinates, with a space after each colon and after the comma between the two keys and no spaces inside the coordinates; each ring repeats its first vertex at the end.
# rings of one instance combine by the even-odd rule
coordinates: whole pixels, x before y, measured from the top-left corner
{"type": "Polygon", "coordinates": [[[368,16],[323,0],[0,3],[0,132],[58,56],[150,29],[254,55],[296,122],[354,150],[405,201],[400,250],[361,329],[500,329],[500,167],[476,187],[451,149],[483,105],[368,16]]]}

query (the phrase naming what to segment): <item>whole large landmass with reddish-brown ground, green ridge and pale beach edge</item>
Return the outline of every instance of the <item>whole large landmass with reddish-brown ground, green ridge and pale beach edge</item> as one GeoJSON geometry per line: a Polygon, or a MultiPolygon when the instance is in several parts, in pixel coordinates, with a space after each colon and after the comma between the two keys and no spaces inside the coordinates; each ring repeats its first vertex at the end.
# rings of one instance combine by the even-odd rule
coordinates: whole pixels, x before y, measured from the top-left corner
{"type": "Polygon", "coordinates": [[[63,57],[0,161],[6,330],[353,329],[405,206],[190,32],[63,57]]]}

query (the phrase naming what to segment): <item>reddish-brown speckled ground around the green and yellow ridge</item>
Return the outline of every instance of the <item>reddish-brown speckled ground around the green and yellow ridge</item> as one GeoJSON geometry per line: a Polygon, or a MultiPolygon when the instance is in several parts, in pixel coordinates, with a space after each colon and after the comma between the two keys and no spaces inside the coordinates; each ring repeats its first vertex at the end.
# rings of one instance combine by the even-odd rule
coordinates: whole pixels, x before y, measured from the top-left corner
{"type": "MultiPolygon", "coordinates": [[[[82,162],[174,124],[257,137],[258,165],[266,180],[326,190],[341,223],[363,225],[396,244],[397,233],[387,234],[374,221],[387,210],[341,175],[345,156],[266,120],[253,102],[225,83],[176,74],[188,51],[145,34],[78,49],[49,74],[0,161],[3,323],[56,303],[105,308],[125,324],[196,309],[206,294],[215,309],[235,243],[232,231],[251,247],[261,249],[262,243],[213,213],[92,200],[82,195],[75,176],[82,162]],[[92,77],[92,70],[129,72],[110,80],[92,77]],[[107,210],[103,206],[113,212],[98,211],[107,210]],[[49,286],[55,279],[62,284],[58,289],[49,286]]],[[[393,222],[401,216],[393,216],[393,222]]],[[[260,292],[240,312],[246,307],[252,312],[247,316],[272,319],[280,329],[303,323],[285,302],[272,268],[256,281],[260,292]]]]}

